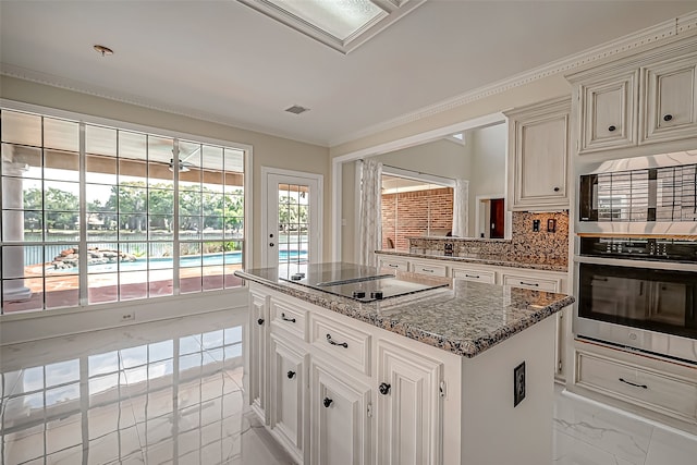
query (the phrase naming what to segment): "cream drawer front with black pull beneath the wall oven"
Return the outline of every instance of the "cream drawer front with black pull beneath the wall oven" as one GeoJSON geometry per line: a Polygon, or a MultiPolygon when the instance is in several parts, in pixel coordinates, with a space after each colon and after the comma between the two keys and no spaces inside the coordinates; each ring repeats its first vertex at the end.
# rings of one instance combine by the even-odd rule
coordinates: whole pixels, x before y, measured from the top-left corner
{"type": "Polygon", "coordinates": [[[648,370],[585,352],[576,352],[575,383],[690,423],[697,420],[697,379],[648,370]]]}

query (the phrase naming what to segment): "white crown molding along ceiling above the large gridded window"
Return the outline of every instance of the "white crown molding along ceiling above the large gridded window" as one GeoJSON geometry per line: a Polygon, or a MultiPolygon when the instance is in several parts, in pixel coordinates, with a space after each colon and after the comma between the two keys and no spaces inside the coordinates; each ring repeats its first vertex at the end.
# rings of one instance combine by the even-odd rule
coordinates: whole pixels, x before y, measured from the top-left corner
{"type": "Polygon", "coordinates": [[[71,90],[80,94],[86,94],[93,97],[99,97],[112,101],[118,101],[120,103],[134,105],[142,108],[147,108],[149,110],[162,111],[166,113],[178,114],[180,117],[192,118],[209,123],[222,124],[225,126],[231,126],[244,131],[252,131],[259,134],[270,135],[274,137],[286,138],[291,140],[296,140],[310,145],[318,145],[321,147],[328,147],[326,140],[320,139],[298,139],[296,136],[292,134],[284,134],[281,132],[270,132],[268,127],[261,127],[254,124],[249,124],[248,122],[237,121],[233,119],[221,118],[216,114],[196,111],[189,108],[176,107],[171,105],[164,105],[161,102],[156,102],[154,100],[148,100],[143,97],[137,97],[134,95],[125,94],[125,93],[114,93],[113,90],[96,86],[93,84],[87,84],[82,81],[70,79],[66,77],[56,76],[53,74],[41,73],[34,70],[28,70],[22,66],[15,66],[13,64],[1,63],[0,62],[0,75],[8,77],[15,77],[22,81],[28,81],[36,84],[42,84],[51,87],[58,87],[65,90],[71,90]]]}

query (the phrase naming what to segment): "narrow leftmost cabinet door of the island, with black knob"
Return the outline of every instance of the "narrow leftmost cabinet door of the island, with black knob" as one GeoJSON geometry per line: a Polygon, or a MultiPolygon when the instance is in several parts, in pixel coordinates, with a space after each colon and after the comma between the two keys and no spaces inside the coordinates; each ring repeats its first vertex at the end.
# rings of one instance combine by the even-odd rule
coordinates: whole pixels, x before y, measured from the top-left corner
{"type": "Polygon", "coordinates": [[[249,403],[268,425],[267,343],[269,315],[267,297],[249,292],[249,403]]]}

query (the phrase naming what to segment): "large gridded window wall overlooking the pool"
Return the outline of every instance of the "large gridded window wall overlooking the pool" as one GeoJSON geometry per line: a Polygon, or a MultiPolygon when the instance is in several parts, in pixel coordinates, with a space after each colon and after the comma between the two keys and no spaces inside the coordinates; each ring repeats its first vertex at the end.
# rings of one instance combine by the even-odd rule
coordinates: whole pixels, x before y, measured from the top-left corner
{"type": "Polygon", "coordinates": [[[244,150],[0,117],[3,314],[242,284],[244,150]]]}

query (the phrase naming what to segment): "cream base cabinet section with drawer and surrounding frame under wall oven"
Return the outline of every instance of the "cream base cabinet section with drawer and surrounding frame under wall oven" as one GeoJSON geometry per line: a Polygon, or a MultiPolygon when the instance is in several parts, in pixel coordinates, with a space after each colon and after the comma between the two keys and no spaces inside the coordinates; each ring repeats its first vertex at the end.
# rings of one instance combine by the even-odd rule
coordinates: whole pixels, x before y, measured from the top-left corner
{"type": "Polygon", "coordinates": [[[697,432],[697,368],[577,340],[570,391],[697,432]]]}

